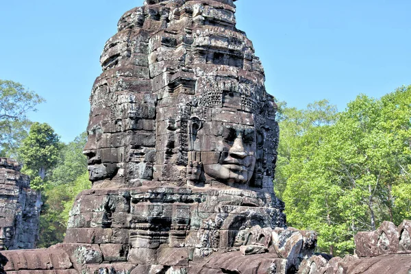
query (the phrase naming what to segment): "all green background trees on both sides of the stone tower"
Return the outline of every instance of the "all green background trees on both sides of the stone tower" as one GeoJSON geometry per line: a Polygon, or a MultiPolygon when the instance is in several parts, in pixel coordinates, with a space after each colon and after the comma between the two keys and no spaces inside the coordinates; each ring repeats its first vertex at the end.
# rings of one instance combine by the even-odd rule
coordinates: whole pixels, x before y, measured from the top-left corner
{"type": "MultiPolygon", "coordinates": [[[[39,247],[61,242],[75,196],[88,181],[86,133],[65,144],[26,113],[44,101],[0,80],[0,155],[23,162],[42,192],[39,247]]],[[[360,95],[338,112],[328,101],[304,110],[279,103],[275,192],[288,225],[319,232],[319,251],[353,251],[353,235],[411,217],[411,86],[381,99],[360,95]]]]}

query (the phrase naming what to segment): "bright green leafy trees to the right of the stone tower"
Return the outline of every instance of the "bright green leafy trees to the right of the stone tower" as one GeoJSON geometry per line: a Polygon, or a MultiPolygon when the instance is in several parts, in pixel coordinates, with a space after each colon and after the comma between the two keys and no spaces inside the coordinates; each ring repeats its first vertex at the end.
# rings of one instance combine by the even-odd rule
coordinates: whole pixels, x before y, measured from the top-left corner
{"type": "Polygon", "coordinates": [[[319,232],[319,248],[353,251],[353,235],[410,216],[411,86],[285,108],[275,190],[289,225],[319,232]]]}

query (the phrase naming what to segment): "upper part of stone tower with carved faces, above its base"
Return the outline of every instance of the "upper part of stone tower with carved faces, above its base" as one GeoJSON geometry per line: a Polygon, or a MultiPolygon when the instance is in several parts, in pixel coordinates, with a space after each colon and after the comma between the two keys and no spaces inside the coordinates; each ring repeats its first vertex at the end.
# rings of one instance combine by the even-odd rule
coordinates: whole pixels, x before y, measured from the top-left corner
{"type": "Polygon", "coordinates": [[[273,193],[278,125],[250,40],[224,1],[147,1],[101,55],[88,144],[94,188],[273,193]]]}

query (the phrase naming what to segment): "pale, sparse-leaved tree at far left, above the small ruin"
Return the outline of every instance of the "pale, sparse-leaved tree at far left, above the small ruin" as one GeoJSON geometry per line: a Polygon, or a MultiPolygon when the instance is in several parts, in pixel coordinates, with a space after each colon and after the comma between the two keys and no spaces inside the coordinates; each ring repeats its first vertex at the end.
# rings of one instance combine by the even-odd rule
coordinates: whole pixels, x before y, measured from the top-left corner
{"type": "Polygon", "coordinates": [[[16,156],[21,140],[27,137],[31,122],[27,112],[36,111],[44,99],[23,85],[0,79],[0,155],[16,156]]]}

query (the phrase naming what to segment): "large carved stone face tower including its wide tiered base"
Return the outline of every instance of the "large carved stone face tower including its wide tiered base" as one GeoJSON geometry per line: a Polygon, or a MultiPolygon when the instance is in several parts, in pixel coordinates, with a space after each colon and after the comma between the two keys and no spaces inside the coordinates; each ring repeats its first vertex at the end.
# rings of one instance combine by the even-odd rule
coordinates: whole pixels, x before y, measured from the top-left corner
{"type": "Polygon", "coordinates": [[[315,235],[284,229],[276,105],[235,9],[147,0],[121,17],[90,96],[92,189],[64,243],[31,258],[59,274],[185,274],[286,273],[310,256],[315,235]]]}

